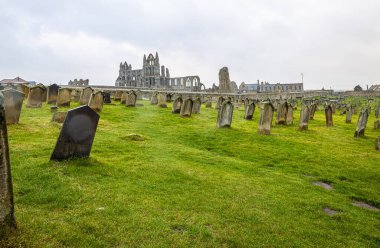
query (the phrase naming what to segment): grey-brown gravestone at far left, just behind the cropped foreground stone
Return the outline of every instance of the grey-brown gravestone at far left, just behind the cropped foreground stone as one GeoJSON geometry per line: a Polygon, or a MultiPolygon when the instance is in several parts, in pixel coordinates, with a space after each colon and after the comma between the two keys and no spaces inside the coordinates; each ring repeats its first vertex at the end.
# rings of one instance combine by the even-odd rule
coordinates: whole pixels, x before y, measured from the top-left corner
{"type": "Polygon", "coordinates": [[[6,115],[6,123],[18,124],[20,120],[22,102],[24,101],[24,93],[17,90],[3,90],[4,109],[6,115]]]}

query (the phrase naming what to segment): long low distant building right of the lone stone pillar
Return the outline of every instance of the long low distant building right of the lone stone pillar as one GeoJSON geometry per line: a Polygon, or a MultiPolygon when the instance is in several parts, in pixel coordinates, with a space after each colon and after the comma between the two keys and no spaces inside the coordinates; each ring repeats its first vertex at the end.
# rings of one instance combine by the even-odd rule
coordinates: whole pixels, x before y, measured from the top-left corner
{"type": "Polygon", "coordinates": [[[303,92],[303,83],[294,84],[270,84],[268,82],[259,82],[256,84],[241,83],[239,86],[240,92],[303,92]]]}

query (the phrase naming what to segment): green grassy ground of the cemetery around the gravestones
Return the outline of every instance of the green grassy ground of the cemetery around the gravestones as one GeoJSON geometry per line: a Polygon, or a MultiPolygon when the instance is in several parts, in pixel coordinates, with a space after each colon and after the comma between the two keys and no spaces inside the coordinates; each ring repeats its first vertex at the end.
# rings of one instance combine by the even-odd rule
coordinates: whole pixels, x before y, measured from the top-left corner
{"type": "Polygon", "coordinates": [[[364,138],[339,111],[300,132],[300,107],[260,136],[258,107],[217,129],[215,109],[180,118],[138,103],[104,105],[90,158],[64,162],[49,161],[50,105],[23,106],[8,126],[18,229],[1,246],[380,246],[380,211],[353,205],[380,207],[373,112],[364,138]]]}

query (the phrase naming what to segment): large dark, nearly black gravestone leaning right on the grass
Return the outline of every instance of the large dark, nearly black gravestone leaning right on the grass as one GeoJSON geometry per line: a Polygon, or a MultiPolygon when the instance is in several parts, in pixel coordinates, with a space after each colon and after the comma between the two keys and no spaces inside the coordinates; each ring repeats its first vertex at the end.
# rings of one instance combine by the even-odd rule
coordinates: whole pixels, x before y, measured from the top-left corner
{"type": "Polygon", "coordinates": [[[50,160],[89,157],[98,122],[99,115],[89,106],[69,110],[50,160]]]}

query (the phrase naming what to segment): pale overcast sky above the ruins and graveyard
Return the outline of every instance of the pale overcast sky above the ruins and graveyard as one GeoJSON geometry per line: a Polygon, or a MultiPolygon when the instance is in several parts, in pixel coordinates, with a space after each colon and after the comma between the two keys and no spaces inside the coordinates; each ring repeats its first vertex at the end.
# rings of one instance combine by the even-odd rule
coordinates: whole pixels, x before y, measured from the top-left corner
{"type": "Polygon", "coordinates": [[[0,0],[0,79],[114,85],[160,56],[171,76],[353,89],[380,82],[379,0],[0,0]]]}

